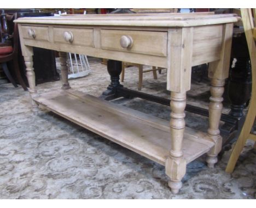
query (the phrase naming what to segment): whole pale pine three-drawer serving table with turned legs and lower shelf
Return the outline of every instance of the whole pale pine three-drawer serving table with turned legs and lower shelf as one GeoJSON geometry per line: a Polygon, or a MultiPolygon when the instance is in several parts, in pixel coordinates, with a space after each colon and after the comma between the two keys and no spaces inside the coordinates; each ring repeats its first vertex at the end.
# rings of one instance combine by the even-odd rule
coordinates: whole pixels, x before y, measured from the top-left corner
{"type": "MultiPolygon", "coordinates": [[[[32,97],[34,101],[62,117],[165,165],[166,174],[170,177],[168,185],[173,193],[177,193],[182,186],[181,180],[187,163],[206,152],[208,156],[215,157],[221,145],[220,139],[216,139],[221,110],[215,107],[221,106],[219,90],[222,89],[223,80],[228,73],[226,66],[230,56],[232,23],[239,19],[232,14],[75,15],[24,18],[16,22],[19,22],[22,54],[25,57],[32,57],[32,47],[42,47],[167,68],[167,89],[171,91],[172,109],[170,124],[113,106],[112,103],[96,101],[90,96],[80,96],[71,89],[32,97]],[[48,34],[37,39],[38,36],[28,30],[25,32],[32,38],[27,38],[25,32],[22,32],[23,26],[48,28],[48,34]],[[117,30],[120,34],[113,38],[118,33],[117,30]],[[72,38],[82,35],[78,31],[90,31],[92,38],[88,39],[89,44],[86,43],[87,40],[81,44],[75,43],[77,39],[72,38]],[[126,48],[120,45],[120,35],[123,34],[126,37],[132,36],[132,44],[131,41],[123,42],[123,47],[127,45],[126,48]],[[151,34],[158,35],[154,35],[156,38],[153,39],[151,34]],[[62,38],[66,40],[63,41],[62,38]],[[205,54],[202,53],[204,50],[205,54]],[[213,116],[210,116],[211,131],[208,134],[191,129],[187,131],[184,123],[185,95],[190,89],[191,66],[204,62],[212,62],[210,77],[213,80],[213,108],[210,109],[210,114],[213,116]],[[85,100],[88,103],[86,106],[85,100]],[[114,123],[109,119],[113,119],[114,123]],[[122,132],[125,136],[119,138],[117,132],[122,132]]],[[[31,58],[27,60],[28,71],[32,71],[31,58]]],[[[61,63],[62,73],[66,77],[63,53],[61,63]]],[[[33,89],[34,77],[30,76],[30,80],[33,89]]],[[[63,83],[68,83],[66,78],[63,83]]]]}

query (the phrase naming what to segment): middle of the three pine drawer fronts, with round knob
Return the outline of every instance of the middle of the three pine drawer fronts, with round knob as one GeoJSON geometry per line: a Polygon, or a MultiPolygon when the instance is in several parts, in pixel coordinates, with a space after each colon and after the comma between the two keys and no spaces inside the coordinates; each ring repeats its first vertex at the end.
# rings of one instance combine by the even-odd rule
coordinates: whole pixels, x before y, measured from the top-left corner
{"type": "Polygon", "coordinates": [[[94,30],[84,28],[53,28],[54,42],[94,47],[94,30]]]}

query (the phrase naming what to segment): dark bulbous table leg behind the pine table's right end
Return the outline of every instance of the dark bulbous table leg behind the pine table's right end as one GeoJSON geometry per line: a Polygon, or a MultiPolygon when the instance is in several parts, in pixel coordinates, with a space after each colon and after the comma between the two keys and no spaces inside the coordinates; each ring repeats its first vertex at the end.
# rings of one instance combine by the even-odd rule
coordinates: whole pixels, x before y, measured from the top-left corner
{"type": "Polygon", "coordinates": [[[228,96],[231,102],[229,115],[237,119],[237,125],[224,124],[222,130],[227,133],[241,129],[244,120],[243,109],[251,97],[252,71],[243,30],[234,29],[231,57],[231,60],[236,59],[236,62],[234,68],[230,66],[228,81],[228,96]]]}

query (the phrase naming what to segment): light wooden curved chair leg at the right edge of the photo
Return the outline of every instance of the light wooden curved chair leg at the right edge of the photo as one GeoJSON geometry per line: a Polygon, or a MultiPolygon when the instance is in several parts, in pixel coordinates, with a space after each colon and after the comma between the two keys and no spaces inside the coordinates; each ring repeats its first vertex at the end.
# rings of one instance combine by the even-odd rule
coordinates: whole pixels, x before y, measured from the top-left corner
{"type": "Polygon", "coordinates": [[[245,123],[243,124],[242,130],[234,149],[231,152],[229,162],[226,166],[226,172],[232,173],[238,157],[246,144],[247,139],[254,140],[254,148],[256,149],[256,135],[251,133],[256,117],[256,46],[255,46],[255,26],[256,26],[256,13],[253,9],[254,22],[252,16],[252,9],[241,9],[241,16],[243,21],[243,28],[245,29],[246,40],[249,50],[249,56],[251,59],[252,66],[252,96],[249,103],[248,113],[246,115],[245,123]]]}

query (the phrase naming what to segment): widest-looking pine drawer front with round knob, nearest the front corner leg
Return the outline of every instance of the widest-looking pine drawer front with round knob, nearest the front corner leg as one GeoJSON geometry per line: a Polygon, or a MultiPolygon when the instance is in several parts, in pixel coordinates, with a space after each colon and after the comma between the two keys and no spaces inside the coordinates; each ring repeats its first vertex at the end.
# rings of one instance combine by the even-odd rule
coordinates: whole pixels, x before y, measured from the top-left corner
{"type": "Polygon", "coordinates": [[[101,29],[101,48],[167,56],[167,32],[101,29]]]}

